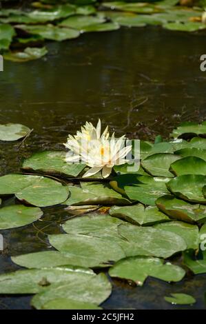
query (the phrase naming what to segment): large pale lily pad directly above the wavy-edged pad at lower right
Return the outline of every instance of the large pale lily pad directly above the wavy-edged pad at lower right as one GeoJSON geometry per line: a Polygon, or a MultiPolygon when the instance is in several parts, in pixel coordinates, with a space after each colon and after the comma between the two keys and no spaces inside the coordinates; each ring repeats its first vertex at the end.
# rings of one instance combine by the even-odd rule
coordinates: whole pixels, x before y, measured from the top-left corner
{"type": "Polygon", "coordinates": [[[168,258],[176,252],[184,251],[187,248],[185,240],[178,234],[153,227],[122,224],[119,225],[118,231],[128,243],[141,247],[150,252],[150,255],[160,258],[168,258]]]}

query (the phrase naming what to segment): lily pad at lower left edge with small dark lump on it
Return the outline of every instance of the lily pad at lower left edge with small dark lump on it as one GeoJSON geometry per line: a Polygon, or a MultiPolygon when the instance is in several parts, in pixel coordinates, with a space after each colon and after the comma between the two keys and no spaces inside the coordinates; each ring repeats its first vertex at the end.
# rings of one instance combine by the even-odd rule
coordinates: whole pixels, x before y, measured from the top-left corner
{"type": "Polygon", "coordinates": [[[77,267],[57,267],[45,269],[18,270],[0,275],[0,294],[37,294],[59,285],[74,284],[96,277],[94,272],[77,267]]]}

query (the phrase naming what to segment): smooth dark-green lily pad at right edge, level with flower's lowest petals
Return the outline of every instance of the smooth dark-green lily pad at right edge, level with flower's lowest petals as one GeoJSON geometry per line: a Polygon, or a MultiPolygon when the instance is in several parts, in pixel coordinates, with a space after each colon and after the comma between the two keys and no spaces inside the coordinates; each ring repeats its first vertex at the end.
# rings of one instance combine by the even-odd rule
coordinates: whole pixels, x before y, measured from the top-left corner
{"type": "Polygon", "coordinates": [[[170,169],[176,176],[183,174],[206,175],[206,161],[196,156],[187,156],[171,164],[170,169]]]}

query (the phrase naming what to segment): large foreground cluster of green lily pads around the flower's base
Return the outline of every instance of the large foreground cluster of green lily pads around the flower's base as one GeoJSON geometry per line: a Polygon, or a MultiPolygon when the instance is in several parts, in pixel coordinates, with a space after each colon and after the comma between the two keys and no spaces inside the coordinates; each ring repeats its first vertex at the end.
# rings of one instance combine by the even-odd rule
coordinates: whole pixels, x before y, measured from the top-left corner
{"type": "MultiPolygon", "coordinates": [[[[5,141],[17,140],[17,130],[5,141]]],[[[107,180],[83,178],[85,165],[65,163],[64,151],[34,153],[19,174],[0,176],[0,230],[38,221],[51,205],[81,211],[48,235],[52,250],[12,256],[24,269],[1,274],[0,294],[34,295],[37,309],[96,309],[112,292],[101,270],[136,285],[206,273],[205,123],[184,123],[169,141],[140,147],[140,170],[121,165],[107,180]],[[6,205],[10,196],[16,201],[6,205]]],[[[184,292],[165,301],[195,303],[184,292]]]]}

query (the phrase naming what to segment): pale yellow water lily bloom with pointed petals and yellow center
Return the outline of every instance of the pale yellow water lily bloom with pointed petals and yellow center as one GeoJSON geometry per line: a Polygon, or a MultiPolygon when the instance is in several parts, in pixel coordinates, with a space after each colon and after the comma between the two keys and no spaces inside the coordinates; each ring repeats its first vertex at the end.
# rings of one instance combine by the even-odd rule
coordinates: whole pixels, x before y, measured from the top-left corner
{"type": "Polygon", "coordinates": [[[68,136],[65,147],[70,149],[66,156],[68,163],[85,163],[90,170],[85,172],[83,177],[92,176],[101,171],[103,178],[109,176],[114,165],[127,163],[125,156],[132,150],[132,145],[125,146],[125,135],[116,139],[114,133],[111,138],[108,128],[101,134],[101,121],[96,125],[86,123],[81,132],[68,136]]]}

